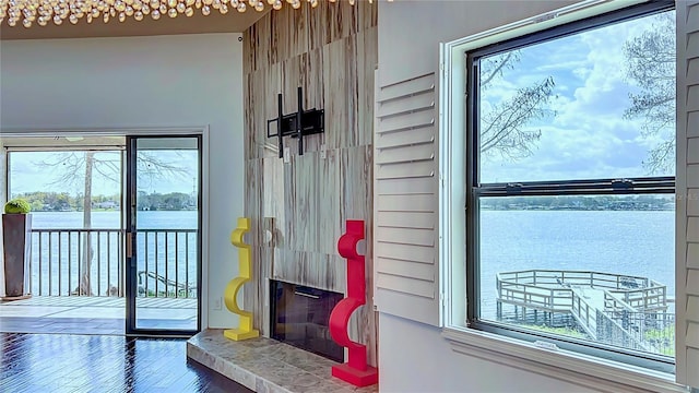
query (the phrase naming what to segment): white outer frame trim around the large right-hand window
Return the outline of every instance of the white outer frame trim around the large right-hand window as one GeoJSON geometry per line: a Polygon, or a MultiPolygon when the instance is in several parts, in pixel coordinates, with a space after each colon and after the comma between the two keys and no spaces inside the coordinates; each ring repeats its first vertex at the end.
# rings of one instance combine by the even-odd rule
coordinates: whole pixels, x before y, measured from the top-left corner
{"type": "MultiPolygon", "coordinates": [[[[660,371],[657,367],[653,367],[655,359],[649,359],[649,362],[641,362],[639,366],[638,364],[627,364],[623,356],[606,356],[607,350],[602,348],[601,352],[593,350],[587,354],[570,350],[571,347],[566,346],[549,350],[534,344],[531,340],[532,335],[526,335],[529,340],[522,340],[523,337],[518,335],[501,335],[501,332],[478,329],[481,326],[477,323],[474,324],[473,321],[466,319],[467,315],[472,315],[474,305],[469,300],[473,299],[472,293],[475,290],[473,285],[470,285],[472,284],[471,278],[469,282],[464,282],[464,277],[474,276],[473,264],[464,263],[467,257],[469,261],[473,258],[471,254],[473,248],[464,247],[466,236],[473,236],[473,228],[466,229],[466,216],[467,222],[474,223],[474,221],[469,216],[470,210],[462,217],[458,214],[458,209],[465,207],[465,196],[462,195],[466,194],[467,186],[473,184],[474,179],[474,172],[471,168],[473,165],[469,164],[466,170],[465,160],[470,158],[463,157],[463,146],[467,146],[467,157],[474,157],[471,154],[473,139],[465,136],[462,131],[466,129],[465,124],[471,122],[471,119],[465,115],[465,105],[472,104],[474,97],[465,94],[466,72],[464,70],[472,70],[472,68],[471,64],[466,68],[464,53],[489,47],[506,50],[502,45],[505,41],[511,43],[511,47],[520,46],[514,44],[531,40],[532,36],[542,37],[547,34],[546,31],[562,28],[560,26],[571,23],[587,24],[588,28],[595,28],[601,25],[601,21],[612,23],[633,17],[629,16],[628,10],[630,9],[633,9],[637,15],[642,15],[648,14],[650,10],[661,12],[675,9],[675,3],[674,1],[662,1],[659,5],[659,2],[644,3],[642,1],[623,3],[588,1],[441,45],[439,227],[441,234],[440,265],[446,297],[442,336],[451,342],[455,352],[481,357],[478,353],[482,350],[484,355],[487,353],[487,356],[483,356],[483,358],[488,360],[511,364],[514,367],[521,366],[520,368],[531,369],[535,372],[546,370],[552,374],[565,373],[567,378],[570,378],[569,372],[572,371],[578,373],[585,381],[585,384],[589,384],[590,380],[584,376],[590,376],[606,379],[607,389],[608,383],[617,383],[656,391],[686,391],[686,386],[674,383],[674,373],[668,372],[670,367],[661,368],[660,371]],[[459,154],[462,156],[460,157],[459,154]],[[460,227],[460,225],[463,226],[460,227]],[[470,266],[467,272],[465,265],[470,266]],[[464,296],[465,293],[471,293],[469,300],[464,296]],[[469,310],[467,314],[466,309],[469,310]],[[602,368],[599,368],[597,366],[601,365],[602,368]],[[547,367],[555,367],[555,370],[547,369],[547,367]]],[[[580,32],[579,28],[576,29],[576,33],[578,32],[580,32]]],[[[477,170],[477,165],[473,167],[474,170],[477,170]]],[[[674,179],[675,177],[665,177],[655,184],[651,184],[648,192],[656,192],[657,189],[661,189],[664,193],[672,193],[674,192],[674,179]],[[667,189],[667,180],[671,179],[673,191],[667,189]]],[[[603,180],[612,182],[616,179],[603,180]]],[[[645,179],[637,178],[635,180],[645,179]]],[[[532,182],[526,186],[534,187],[536,184],[532,182]]],[[[607,186],[597,184],[604,192],[615,193],[618,191],[607,186]]],[[[600,192],[595,191],[594,193],[600,192]]],[[[636,193],[636,191],[630,190],[626,193],[636,193]]]]}

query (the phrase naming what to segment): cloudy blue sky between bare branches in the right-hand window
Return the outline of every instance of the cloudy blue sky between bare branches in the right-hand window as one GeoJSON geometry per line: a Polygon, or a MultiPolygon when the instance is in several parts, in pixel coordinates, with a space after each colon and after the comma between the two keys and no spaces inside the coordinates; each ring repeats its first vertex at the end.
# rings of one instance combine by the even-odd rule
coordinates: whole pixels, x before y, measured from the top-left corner
{"type": "Polygon", "coordinates": [[[484,157],[483,180],[648,176],[642,160],[657,141],[641,136],[642,119],[623,118],[629,92],[638,91],[626,78],[623,48],[650,25],[641,19],[521,49],[514,69],[488,85],[484,105],[553,76],[549,108],[556,115],[530,124],[542,131],[531,156],[517,162],[498,154],[484,157]]]}

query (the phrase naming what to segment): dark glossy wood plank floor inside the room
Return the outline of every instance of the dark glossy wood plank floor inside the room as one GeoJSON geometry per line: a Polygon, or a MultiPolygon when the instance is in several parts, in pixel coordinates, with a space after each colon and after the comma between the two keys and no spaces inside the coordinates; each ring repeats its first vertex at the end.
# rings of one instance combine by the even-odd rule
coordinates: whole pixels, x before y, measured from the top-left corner
{"type": "Polygon", "coordinates": [[[251,392],[177,338],[0,333],[0,392],[251,392]]]}

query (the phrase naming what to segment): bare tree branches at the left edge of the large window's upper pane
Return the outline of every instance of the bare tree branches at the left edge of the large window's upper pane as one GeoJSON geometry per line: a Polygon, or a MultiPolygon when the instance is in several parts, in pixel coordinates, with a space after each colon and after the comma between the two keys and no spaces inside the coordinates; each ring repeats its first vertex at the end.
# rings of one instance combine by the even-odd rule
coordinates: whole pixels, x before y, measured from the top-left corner
{"type": "MultiPolygon", "coordinates": [[[[520,61],[518,50],[481,60],[479,86],[487,90],[505,70],[520,61]]],[[[532,85],[518,88],[514,94],[489,107],[481,106],[481,153],[499,153],[502,158],[517,160],[530,156],[532,146],[541,139],[541,130],[526,128],[530,121],[544,118],[552,110],[546,105],[553,97],[554,79],[548,76],[532,85]]]]}

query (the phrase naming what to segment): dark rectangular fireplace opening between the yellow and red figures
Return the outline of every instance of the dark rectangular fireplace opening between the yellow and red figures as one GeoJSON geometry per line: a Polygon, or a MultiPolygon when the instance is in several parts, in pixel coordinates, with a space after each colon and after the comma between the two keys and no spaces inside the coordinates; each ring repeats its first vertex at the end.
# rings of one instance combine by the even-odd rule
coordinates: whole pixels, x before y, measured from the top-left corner
{"type": "Polygon", "coordinates": [[[343,362],[344,348],[330,336],[332,309],[343,294],[270,281],[272,338],[343,362]]]}

